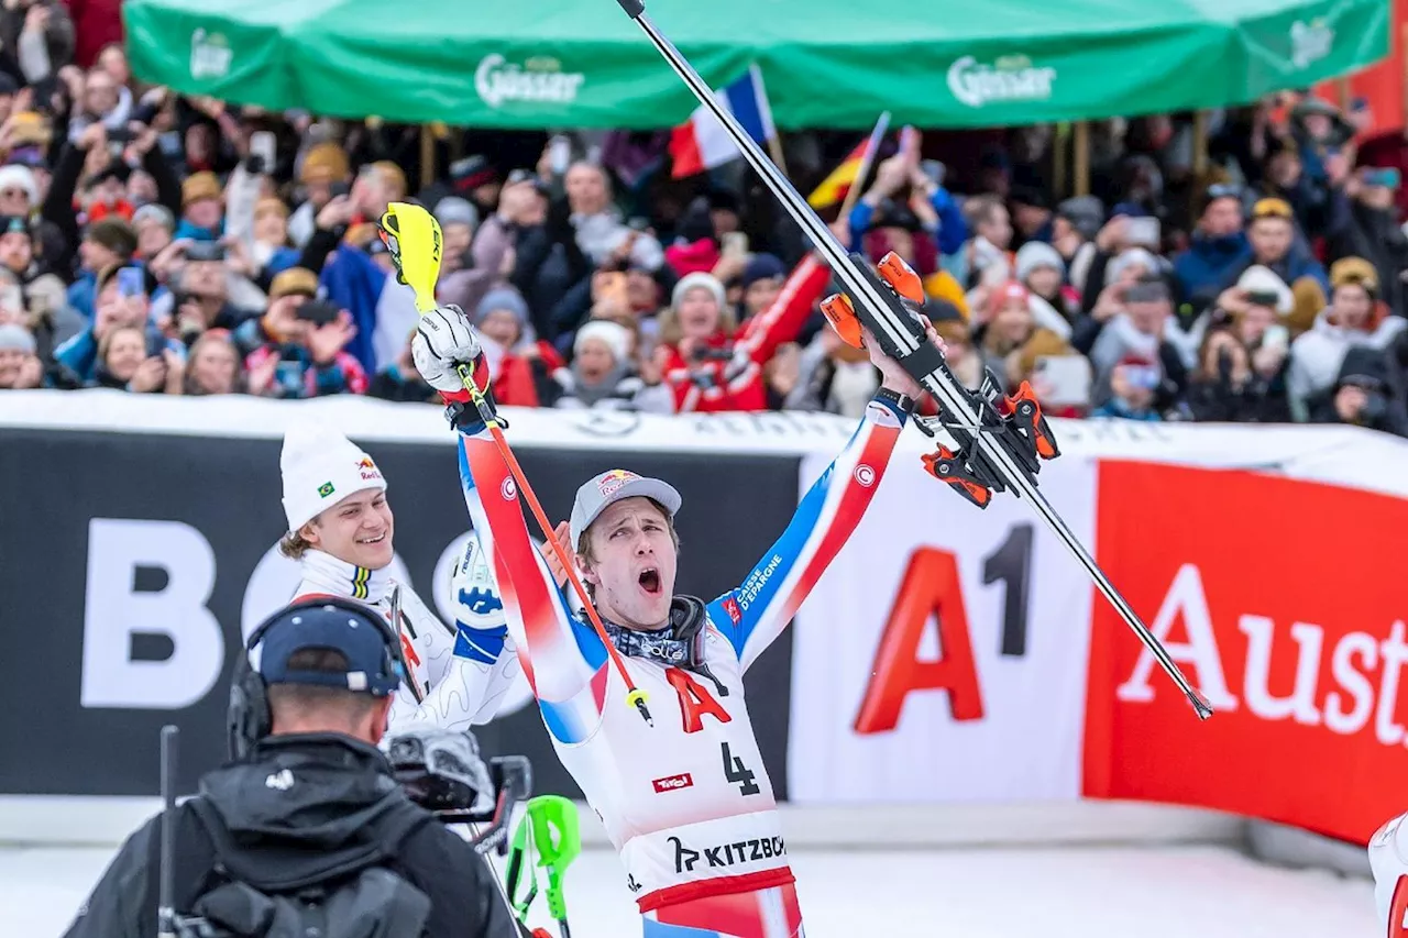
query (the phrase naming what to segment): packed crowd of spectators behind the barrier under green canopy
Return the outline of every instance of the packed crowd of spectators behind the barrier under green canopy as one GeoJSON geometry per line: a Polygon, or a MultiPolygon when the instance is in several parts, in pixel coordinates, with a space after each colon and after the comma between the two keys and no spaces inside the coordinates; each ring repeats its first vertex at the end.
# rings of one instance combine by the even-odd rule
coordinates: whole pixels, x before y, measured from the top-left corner
{"type": "MultiPolygon", "coordinates": [[[[417,128],[148,87],[79,58],[56,0],[0,8],[0,389],[435,400],[375,223],[425,204],[438,294],[498,400],[856,415],[879,376],[825,328],[819,255],[742,162],[672,179],[667,132],[417,128]],[[431,175],[424,177],[429,179],[431,175]]],[[[1286,94],[1094,124],[1091,194],[1052,128],[881,149],[832,231],[924,277],[953,372],[1048,413],[1350,423],[1408,434],[1408,138],[1286,94]]],[[[855,134],[790,134],[805,193],[855,134]]]]}

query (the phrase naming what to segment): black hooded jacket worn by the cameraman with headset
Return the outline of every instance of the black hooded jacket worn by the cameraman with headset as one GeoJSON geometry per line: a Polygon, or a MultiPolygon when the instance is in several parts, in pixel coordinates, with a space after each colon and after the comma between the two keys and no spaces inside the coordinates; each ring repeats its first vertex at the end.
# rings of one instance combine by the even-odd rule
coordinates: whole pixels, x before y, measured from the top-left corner
{"type": "MultiPolygon", "coordinates": [[[[290,841],[304,856],[356,844],[373,806],[398,789],[380,751],[342,735],[272,737],[245,763],[206,775],[208,799],[237,839],[259,846],[279,838],[284,846],[266,862],[286,861],[290,841]],[[294,784],[270,786],[284,769],[294,784]]],[[[132,834],[103,873],[66,938],[151,938],[156,934],[162,817],[132,834]]],[[[259,849],[252,846],[251,849],[259,849]]],[[[241,853],[245,855],[244,852],[241,853]]],[[[189,913],[218,880],[214,849],[189,803],[176,814],[175,906],[189,913]]],[[[406,838],[391,869],[431,900],[427,938],[517,938],[489,865],[452,831],[431,820],[406,838]]]]}

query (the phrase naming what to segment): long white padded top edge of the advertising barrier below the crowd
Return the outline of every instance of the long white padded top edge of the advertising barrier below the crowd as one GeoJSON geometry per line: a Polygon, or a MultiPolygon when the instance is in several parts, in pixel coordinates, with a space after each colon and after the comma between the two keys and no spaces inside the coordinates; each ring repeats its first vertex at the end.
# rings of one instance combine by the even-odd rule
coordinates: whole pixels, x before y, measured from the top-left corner
{"type": "MultiPolygon", "coordinates": [[[[690,454],[817,454],[831,459],[856,430],[834,414],[627,414],[504,407],[508,442],[553,449],[690,454]]],[[[0,394],[0,427],[252,437],[279,439],[297,421],[315,420],[356,442],[453,445],[444,410],[353,394],[266,400],[239,394],[168,397],[93,389],[0,394]]],[[[1135,459],[1219,469],[1252,469],[1408,497],[1408,441],[1359,427],[1322,424],[1155,424],[1136,420],[1052,420],[1056,463],[1135,459]]],[[[907,430],[895,458],[917,462],[934,441],[907,430]]],[[[1042,475],[1050,470],[1043,469],[1042,475]]],[[[1008,496],[998,496],[1005,500],[1008,496]]]]}

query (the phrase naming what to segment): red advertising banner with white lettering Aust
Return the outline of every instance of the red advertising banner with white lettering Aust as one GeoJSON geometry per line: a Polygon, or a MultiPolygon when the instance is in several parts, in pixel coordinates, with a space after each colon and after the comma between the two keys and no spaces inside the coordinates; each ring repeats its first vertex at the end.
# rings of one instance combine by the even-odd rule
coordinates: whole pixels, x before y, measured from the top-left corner
{"type": "Polygon", "coordinates": [[[1408,808],[1408,500],[1136,462],[1097,492],[1097,559],[1217,713],[1097,600],[1083,793],[1357,844],[1408,808]]]}

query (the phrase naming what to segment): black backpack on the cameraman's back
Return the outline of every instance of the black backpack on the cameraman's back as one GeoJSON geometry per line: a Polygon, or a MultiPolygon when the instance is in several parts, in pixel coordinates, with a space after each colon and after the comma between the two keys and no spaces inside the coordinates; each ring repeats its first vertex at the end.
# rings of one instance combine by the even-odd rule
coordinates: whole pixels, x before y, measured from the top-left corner
{"type": "Polygon", "coordinates": [[[429,897],[387,868],[400,845],[434,818],[408,801],[391,801],[372,821],[370,837],[325,853],[310,868],[296,849],[298,872],[280,873],[279,846],[252,851],[234,841],[203,797],[187,801],[215,852],[214,886],[186,918],[182,938],[418,938],[429,920],[429,897]],[[321,858],[320,858],[321,859],[321,858]]]}

